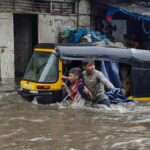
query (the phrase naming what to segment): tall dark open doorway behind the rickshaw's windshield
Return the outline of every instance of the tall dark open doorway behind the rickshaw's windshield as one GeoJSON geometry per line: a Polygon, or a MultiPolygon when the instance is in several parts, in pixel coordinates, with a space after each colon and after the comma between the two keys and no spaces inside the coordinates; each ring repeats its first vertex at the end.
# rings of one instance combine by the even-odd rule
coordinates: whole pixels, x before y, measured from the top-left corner
{"type": "Polygon", "coordinates": [[[14,14],[15,79],[21,78],[38,42],[38,16],[14,14]]]}

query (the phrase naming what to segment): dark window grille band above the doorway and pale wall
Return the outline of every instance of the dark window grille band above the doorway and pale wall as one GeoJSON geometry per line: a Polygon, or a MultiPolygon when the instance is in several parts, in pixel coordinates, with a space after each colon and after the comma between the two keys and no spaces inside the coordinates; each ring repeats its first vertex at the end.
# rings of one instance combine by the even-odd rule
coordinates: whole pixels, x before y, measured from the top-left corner
{"type": "Polygon", "coordinates": [[[0,0],[0,12],[2,11],[74,14],[75,2],[50,0],[0,0]]]}

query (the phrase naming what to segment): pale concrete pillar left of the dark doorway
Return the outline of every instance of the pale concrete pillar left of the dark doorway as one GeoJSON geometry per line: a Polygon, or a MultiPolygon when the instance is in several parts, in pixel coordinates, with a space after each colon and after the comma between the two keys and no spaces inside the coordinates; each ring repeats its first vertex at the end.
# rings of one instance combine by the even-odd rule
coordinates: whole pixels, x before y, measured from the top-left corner
{"type": "Polygon", "coordinates": [[[14,82],[13,14],[0,13],[0,77],[2,83],[14,82]]]}

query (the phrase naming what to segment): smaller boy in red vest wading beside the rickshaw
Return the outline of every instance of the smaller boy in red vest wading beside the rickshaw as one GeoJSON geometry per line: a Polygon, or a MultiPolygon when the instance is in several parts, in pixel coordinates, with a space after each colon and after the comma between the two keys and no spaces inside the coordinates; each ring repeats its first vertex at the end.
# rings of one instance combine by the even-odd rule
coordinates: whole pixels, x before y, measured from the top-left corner
{"type": "Polygon", "coordinates": [[[72,102],[86,99],[88,96],[92,97],[91,92],[82,83],[82,71],[80,68],[70,69],[69,77],[64,77],[64,79],[68,79],[71,83],[71,88],[69,88],[65,83],[63,86],[72,102]]]}

